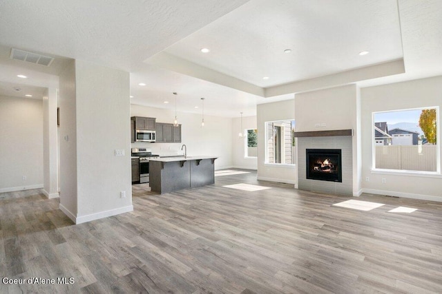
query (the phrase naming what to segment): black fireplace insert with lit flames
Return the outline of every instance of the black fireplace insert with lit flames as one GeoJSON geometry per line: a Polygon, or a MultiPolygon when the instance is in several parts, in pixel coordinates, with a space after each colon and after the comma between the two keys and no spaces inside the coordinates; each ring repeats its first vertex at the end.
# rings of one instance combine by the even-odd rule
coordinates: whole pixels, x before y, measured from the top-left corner
{"type": "Polygon", "coordinates": [[[340,149],[306,149],[307,179],[343,182],[340,149]]]}

